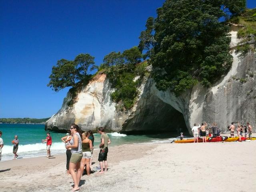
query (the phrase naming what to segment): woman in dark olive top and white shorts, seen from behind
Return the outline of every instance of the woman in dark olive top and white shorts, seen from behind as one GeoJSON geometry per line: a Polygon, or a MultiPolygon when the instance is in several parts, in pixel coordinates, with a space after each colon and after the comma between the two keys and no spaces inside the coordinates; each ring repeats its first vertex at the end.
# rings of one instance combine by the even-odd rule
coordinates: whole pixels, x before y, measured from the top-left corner
{"type": "Polygon", "coordinates": [[[83,157],[81,160],[81,176],[84,171],[84,165],[86,165],[86,172],[87,175],[90,175],[90,158],[92,157],[91,150],[92,150],[92,140],[90,140],[89,132],[84,132],[82,134],[82,152],[83,157]]]}

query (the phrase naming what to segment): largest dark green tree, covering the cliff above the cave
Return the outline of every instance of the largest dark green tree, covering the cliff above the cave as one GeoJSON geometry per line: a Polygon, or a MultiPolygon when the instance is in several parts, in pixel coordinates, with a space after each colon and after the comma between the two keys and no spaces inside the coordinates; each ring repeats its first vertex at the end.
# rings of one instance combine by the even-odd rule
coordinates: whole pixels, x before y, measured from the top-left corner
{"type": "Polygon", "coordinates": [[[219,18],[244,8],[245,0],[166,0],[157,18],[148,19],[139,44],[150,56],[157,88],[180,94],[198,81],[210,86],[227,72],[229,27],[219,18]]]}

